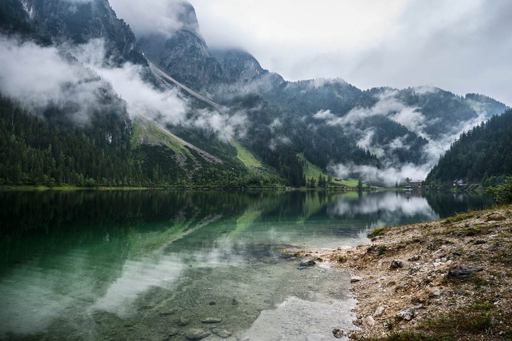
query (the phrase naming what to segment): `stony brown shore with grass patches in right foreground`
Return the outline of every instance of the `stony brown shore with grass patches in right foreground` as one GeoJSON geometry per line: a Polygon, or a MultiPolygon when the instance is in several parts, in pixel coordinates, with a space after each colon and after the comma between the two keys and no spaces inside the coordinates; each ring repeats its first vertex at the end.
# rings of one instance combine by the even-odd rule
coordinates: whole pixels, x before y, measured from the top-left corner
{"type": "Polygon", "coordinates": [[[358,340],[512,339],[512,206],[377,228],[314,254],[351,275],[358,340]]]}

